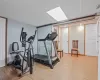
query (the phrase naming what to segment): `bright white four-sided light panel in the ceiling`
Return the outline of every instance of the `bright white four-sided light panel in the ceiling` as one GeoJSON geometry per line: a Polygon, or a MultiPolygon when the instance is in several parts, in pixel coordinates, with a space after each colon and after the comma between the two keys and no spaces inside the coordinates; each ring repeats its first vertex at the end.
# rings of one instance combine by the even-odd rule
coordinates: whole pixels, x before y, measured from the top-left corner
{"type": "Polygon", "coordinates": [[[49,10],[47,13],[57,21],[68,19],[60,7],[49,10]]]}

